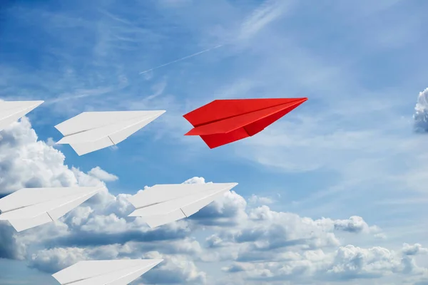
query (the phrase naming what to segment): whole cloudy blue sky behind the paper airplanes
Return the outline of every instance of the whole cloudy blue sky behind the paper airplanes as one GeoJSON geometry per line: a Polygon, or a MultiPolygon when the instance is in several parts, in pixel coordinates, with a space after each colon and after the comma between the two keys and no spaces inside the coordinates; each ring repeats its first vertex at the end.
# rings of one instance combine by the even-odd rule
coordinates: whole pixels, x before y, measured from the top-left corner
{"type": "Polygon", "coordinates": [[[163,258],[133,284],[428,284],[428,2],[9,0],[0,98],[44,100],[1,131],[0,195],[105,184],[58,222],[0,222],[0,285],[91,259],[163,258]],[[212,49],[168,66],[156,66],[212,49]],[[210,150],[182,115],[220,98],[309,100],[210,150]],[[78,157],[54,125],[166,110],[78,157]],[[128,218],[145,186],[238,182],[193,217],[128,218]]]}

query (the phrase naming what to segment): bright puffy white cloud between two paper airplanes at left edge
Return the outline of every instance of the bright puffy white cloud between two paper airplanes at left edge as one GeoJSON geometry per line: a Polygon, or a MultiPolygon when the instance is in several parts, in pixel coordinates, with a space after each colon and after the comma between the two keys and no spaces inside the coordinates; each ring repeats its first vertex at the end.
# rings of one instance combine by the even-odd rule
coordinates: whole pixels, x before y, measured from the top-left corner
{"type": "Polygon", "coordinates": [[[25,187],[68,187],[78,181],[58,150],[38,141],[28,118],[9,125],[0,138],[0,194],[25,187]]]}

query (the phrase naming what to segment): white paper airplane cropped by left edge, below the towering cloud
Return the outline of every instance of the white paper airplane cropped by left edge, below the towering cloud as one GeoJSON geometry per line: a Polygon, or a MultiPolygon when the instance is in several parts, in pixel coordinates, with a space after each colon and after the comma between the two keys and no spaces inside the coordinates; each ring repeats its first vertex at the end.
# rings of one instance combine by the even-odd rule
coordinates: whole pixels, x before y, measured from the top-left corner
{"type": "Polygon", "coordinates": [[[0,220],[17,232],[53,222],[105,187],[23,188],[0,199],[0,220]]]}

